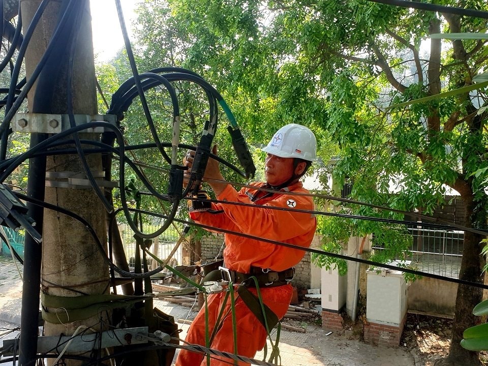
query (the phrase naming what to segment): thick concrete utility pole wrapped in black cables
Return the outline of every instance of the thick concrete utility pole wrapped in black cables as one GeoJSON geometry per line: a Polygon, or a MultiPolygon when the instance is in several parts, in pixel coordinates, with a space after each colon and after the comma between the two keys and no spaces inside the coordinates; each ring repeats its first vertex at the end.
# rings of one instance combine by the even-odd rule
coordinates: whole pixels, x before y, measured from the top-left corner
{"type": "MultiPolygon", "coordinates": [[[[84,1],[84,0],[76,0],[84,1]]],[[[41,0],[20,0],[21,14],[24,32],[31,22],[36,10],[41,4],[41,0]]],[[[53,0],[49,3],[44,15],[38,23],[34,32],[34,37],[29,43],[25,54],[25,68],[27,79],[32,75],[33,70],[39,63],[44,54],[49,40],[56,28],[60,11],[69,3],[68,0],[53,0]]],[[[62,58],[59,70],[53,78],[56,78],[54,93],[50,105],[33,105],[36,86],[29,93],[28,108],[31,113],[67,113],[67,90],[73,89],[73,109],[75,114],[94,115],[97,114],[97,98],[95,83],[95,66],[92,43],[92,28],[89,9],[89,1],[84,1],[82,9],[82,19],[79,23],[79,34],[68,42],[68,47],[64,51],[65,57],[62,58]],[[67,85],[68,76],[68,56],[73,42],[76,42],[74,56],[73,81],[72,85],[67,85]],[[34,109],[35,108],[35,109],[34,109]]],[[[41,93],[44,92],[41,91],[41,93]]],[[[89,120],[89,119],[88,119],[89,120]]],[[[61,121],[58,121],[60,124],[61,121]]],[[[53,123],[54,124],[54,123],[53,123]]],[[[86,133],[80,134],[81,139],[99,140],[100,134],[86,133]]],[[[64,146],[66,148],[66,146],[64,146]]],[[[70,145],[69,147],[73,147],[70,145]]],[[[87,156],[90,169],[97,176],[102,172],[102,159],[100,155],[87,156]]],[[[59,155],[47,158],[46,171],[54,180],[62,181],[66,174],[82,174],[84,171],[80,159],[77,155],[59,155]]],[[[29,176],[29,180],[34,177],[29,176]]],[[[66,180],[66,179],[65,179],[66,180]]],[[[42,184],[42,182],[38,182],[42,184]]],[[[106,210],[95,191],[91,188],[57,188],[52,187],[52,183],[45,188],[44,200],[47,203],[63,207],[75,212],[92,225],[100,241],[106,245],[106,210]]],[[[43,223],[43,243],[42,243],[42,291],[49,295],[73,297],[92,294],[102,294],[109,290],[109,270],[103,261],[102,253],[96,245],[96,241],[88,230],[78,221],[59,212],[44,209],[43,223]]],[[[103,253],[103,255],[105,255],[103,253]]],[[[35,282],[35,281],[34,281],[35,282]]],[[[31,289],[35,288],[35,283],[31,283],[31,289]]],[[[38,285],[39,287],[39,285],[38,285]]],[[[25,285],[24,285],[25,290],[25,285]]],[[[39,297],[38,297],[39,298],[39,297]]],[[[22,312],[27,311],[28,304],[22,302],[22,312]],[[25,309],[24,309],[25,306],[25,309]]],[[[31,307],[36,304],[31,304],[31,307]]],[[[54,309],[49,309],[55,312],[54,309]]],[[[37,313],[37,310],[36,310],[37,313]]],[[[45,335],[66,335],[73,334],[81,326],[100,330],[105,328],[107,317],[105,313],[95,314],[94,316],[80,321],[72,322],[45,322],[45,335]],[[103,322],[101,323],[101,318],[103,322]],[[56,324],[57,323],[57,324],[56,324]],[[104,325],[101,325],[104,324],[104,325]]],[[[59,318],[62,318],[59,314],[59,318]]],[[[29,326],[24,324],[25,318],[22,317],[22,327],[29,326]]],[[[32,324],[30,325],[32,328],[32,324]]],[[[80,331],[80,330],[79,330],[80,331]]],[[[92,331],[88,331],[92,332],[92,331]]],[[[24,332],[25,333],[25,332],[24,332]]],[[[22,334],[21,338],[25,334],[22,334]]],[[[28,338],[27,335],[25,335],[28,338]]],[[[31,335],[32,338],[32,335],[31,335]]],[[[22,342],[22,341],[21,341],[22,342]]],[[[32,345],[31,345],[32,346],[32,345]]],[[[24,343],[21,344],[21,361],[28,363],[33,360],[33,350],[28,349],[24,343]]],[[[35,353],[34,353],[35,356],[35,353]]],[[[67,364],[79,364],[81,361],[67,361],[67,364]]]]}

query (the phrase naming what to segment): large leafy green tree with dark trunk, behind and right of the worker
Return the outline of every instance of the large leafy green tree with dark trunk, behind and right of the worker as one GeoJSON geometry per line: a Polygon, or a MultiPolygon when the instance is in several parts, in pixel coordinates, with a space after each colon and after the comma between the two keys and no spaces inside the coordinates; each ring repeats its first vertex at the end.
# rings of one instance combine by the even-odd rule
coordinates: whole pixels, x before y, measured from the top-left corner
{"type": "MultiPolygon", "coordinates": [[[[463,4],[488,10],[483,1],[463,4]]],[[[351,198],[429,214],[449,186],[464,200],[463,224],[485,227],[486,170],[473,174],[488,166],[484,89],[388,108],[473,84],[487,66],[485,40],[431,39],[426,50],[421,45],[432,34],[484,32],[482,19],[362,0],[147,0],[144,7],[150,9],[141,12],[150,36],[143,44],[153,59],[170,54],[158,62],[178,60],[216,85],[253,142],[264,143],[290,121],[308,125],[317,132],[322,159],[338,157],[333,176],[354,181],[351,198]],[[168,53],[160,41],[164,49],[158,51],[152,39],[185,46],[168,53]],[[390,179],[399,194],[388,194],[390,179]]],[[[481,239],[465,232],[463,280],[482,281],[481,239]]],[[[479,289],[459,286],[449,355],[438,364],[479,363],[460,341],[476,323],[471,311],[480,300],[479,289]]]]}

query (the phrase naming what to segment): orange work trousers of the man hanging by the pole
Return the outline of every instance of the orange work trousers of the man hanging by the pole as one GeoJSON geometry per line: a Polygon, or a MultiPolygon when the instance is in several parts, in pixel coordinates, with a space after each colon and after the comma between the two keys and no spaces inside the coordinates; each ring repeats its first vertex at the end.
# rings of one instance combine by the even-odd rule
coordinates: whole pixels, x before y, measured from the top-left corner
{"type": "MultiPolygon", "coordinates": [[[[256,289],[249,289],[256,295],[256,289]]],[[[293,295],[293,288],[291,285],[283,285],[277,287],[261,288],[261,297],[263,302],[269,309],[282,319],[285,316],[288,306],[293,295]]],[[[237,354],[253,358],[256,352],[263,349],[266,343],[266,330],[264,326],[258,321],[256,316],[249,310],[246,304],[240,299],[237,292],[234,292],[235,297],[235,318],[237,329],[237,354]]],[[[208,296],[208,332],[210,334],[216,326],[216,321],[220,310],[224,307],[224,312],[220,321],[217,324],[217,333],[209,348],[217,349],[223,352],[234,353],[234,337],[232,328],[232,312],[230,296],[224,303],[225,292],[212,294],[208,296]]],[[[188,329],[186,342],[205,346],[205,307],[195,317],[192,325],[188,329]]],[[[227,357],[220,357],[210,355],[211,366],[228,366],[233,364],[233,360],[227,357]]],[[[237,363],[239,366],[249,365],[250,363],[237,363]]],[[[204,354],[180,349],[178,357],[176,358],[175,366],[206,366],[207,359],[204,354]]]]}

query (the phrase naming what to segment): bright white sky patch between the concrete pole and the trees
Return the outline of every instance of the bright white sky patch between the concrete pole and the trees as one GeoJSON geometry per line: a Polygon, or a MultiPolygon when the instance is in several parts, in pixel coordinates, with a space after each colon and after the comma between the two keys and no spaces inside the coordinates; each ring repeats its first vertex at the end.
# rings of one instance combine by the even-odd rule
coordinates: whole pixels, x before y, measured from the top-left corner
{"type": "MultiPolygon", "coordinates": [[[[137,0],[120,0],[127,31],[132,36],[132,21],[137,0]]],[[[96,62],[106,62],[124,47],[124,38],[115,7],[115,0],[90,0],[92,12],[93,47],[96,62]]]]}

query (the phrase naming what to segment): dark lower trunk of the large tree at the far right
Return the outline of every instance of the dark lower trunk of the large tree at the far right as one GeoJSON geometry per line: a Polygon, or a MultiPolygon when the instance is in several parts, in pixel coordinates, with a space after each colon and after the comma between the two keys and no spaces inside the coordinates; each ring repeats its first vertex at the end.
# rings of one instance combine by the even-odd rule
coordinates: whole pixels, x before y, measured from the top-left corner
{"type": "MultiPolygon", "coordinates": [[[[470,227],[473,216],[472,199],[465,199],[466,205],[466,223],[470,227]]],[[[461,261],[459,279],[471,282],[482,283],[481,275],[481,246],[482,237],[478,234],[465,231],[464,249],[461,261]]],[[[451,345],[449,355],[446,358],[438,360],[436,366],[478,366],[480,365],[478,353],[468,351],[461,347],[460,342],[463,339],[463,332],[478,323],[480,318],[473,315],[473,308],[481,302],[482,290],[473,286],[459,285],[457,287],[456,305],[454,311],[454,321],[452,324],[451,345]]]]}

